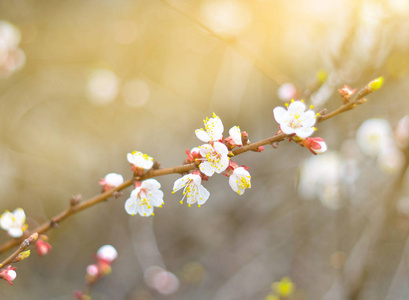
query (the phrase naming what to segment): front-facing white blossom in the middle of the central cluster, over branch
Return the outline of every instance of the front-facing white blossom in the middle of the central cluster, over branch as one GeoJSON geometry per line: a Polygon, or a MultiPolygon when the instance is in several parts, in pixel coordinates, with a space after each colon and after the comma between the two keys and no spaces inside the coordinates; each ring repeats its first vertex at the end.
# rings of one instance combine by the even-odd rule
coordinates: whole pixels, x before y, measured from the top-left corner
{"type": "Polygon", "coordinates": [[[227,156],[229,150],[226,145],[215,142],[213,145],[204,144],[199,149],[203,159],[206,159],[199,166],[203,174],[212,176],[214,172],[221,173],[229,166],[229,157],[227,156]]]}

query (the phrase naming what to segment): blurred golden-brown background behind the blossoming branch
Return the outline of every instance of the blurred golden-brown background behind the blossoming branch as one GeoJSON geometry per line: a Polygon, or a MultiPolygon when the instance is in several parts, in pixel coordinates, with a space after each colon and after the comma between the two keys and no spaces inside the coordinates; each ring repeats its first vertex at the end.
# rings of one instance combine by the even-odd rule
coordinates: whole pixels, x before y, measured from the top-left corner
{"type": "Polygon", "coordinates": [[[242,196],[213,176],[189,208],[168,175],[154,217],[126,214],[127,189],[65,220],[2,299],[72,299],[104,244],[119,257],[93,299],[265,299],[284,276],[291,299],[408,298],[408,1],[18,0],[0,20],[0,203],[29,229],[107,173],[131,178],[128,152],[182,164],[213,112],[255,142],[291,98],[331,111],[344,84],[385,79],[317,126],[327,153],[236,157],[252,175],[242,196]]]}

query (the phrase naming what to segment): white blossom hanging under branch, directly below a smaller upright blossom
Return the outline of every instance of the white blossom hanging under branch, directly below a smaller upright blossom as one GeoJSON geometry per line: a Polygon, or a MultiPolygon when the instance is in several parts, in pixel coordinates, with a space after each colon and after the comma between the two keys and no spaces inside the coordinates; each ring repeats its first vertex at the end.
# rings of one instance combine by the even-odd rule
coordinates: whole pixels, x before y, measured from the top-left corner
{"type": "Polygon", "coordinates": [[[141,183],[131,192],[131,196],[125,202],[125,210],[134,216],[140,214],[148,217],[153,215],[153,207],[162,207],[163,192],[160,183],[156,179],[148,179],[141,183]]]}

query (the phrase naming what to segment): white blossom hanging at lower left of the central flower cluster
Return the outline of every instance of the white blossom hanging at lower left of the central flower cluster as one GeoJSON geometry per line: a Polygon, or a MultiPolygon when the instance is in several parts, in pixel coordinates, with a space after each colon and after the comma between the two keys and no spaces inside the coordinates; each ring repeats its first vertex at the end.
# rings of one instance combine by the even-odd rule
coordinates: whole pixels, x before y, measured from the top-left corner
{"type": "Polygon", "coordinates": [[[172,193],[183,188],[183,198],[180,203],[183,203],[183,199],[187,198],[186,202],[190,206],[191,204],[197,203],[200,207],[209,198],[209,191],[202,186],[202,178],[197,174],[187,174],[182,178],[175,181],[173,185],[172,193]]]}

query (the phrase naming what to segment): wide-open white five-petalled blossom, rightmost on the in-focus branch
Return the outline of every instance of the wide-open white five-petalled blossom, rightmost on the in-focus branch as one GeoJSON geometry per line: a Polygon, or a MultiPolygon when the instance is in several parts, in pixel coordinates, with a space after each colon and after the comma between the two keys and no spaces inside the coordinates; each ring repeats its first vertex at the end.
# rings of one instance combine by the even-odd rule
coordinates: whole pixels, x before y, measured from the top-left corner
{"type": "Polygon", "coordinates": [[[316,121],[314,111],[305,109],[302,101],[291,101],[287,110],[281,106],[274,108],[274,118],[285,134],[296,134],[305,139],[314,132],[313,126],[316,121]]]}

